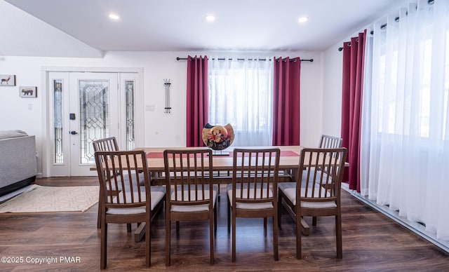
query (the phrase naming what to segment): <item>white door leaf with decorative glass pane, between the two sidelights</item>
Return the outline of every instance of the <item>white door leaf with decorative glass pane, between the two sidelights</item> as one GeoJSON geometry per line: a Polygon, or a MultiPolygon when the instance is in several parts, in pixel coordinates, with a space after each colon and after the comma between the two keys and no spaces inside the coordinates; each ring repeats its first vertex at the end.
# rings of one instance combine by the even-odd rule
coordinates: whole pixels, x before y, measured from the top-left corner
{"type": "Polygon", "coordinates": [[[117,74],[71,73],[70,88],[70,175],[96,175],[92,142],[119,135],[117,74]]]}

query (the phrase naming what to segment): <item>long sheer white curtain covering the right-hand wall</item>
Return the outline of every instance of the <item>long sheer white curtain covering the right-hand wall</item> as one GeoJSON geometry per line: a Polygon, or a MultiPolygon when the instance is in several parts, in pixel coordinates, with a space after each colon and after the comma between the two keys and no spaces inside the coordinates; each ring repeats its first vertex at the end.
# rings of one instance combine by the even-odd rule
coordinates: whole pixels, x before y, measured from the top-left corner
{"type": "Polygon", "coordinates": [[[418,1],[383,23],[367,41],[361,187],[449,240],[449,1],[418,1]]]}

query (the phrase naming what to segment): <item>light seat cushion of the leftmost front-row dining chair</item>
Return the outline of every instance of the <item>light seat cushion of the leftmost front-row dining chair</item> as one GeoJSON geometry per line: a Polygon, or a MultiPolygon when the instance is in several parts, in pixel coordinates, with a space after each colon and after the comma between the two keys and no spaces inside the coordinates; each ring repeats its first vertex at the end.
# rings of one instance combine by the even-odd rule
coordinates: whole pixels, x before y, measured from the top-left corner
{"type": "MultiPolygon", "coordinates": [[[[141,195],[142,195],[142,202],[145,202],[147,197],[145,196],[145,186],[140,186],[141,188],[141,195]]],[[[151,209],[154,210],[156,205],[163,200],[163,197],[166,195],[166,188],[164,186],[151,186],[151,194],[152,194],[152,203],[151,203],[151,209]]],[[[134,192],[133,193],[134,199],[137,200],[139,193],[134,192]]],[[[130,200],[131,193],[126,193],[126,200],[130,200]]],[[[116,198],[113,199],[114,203],[117,203],[116,198]]],[[[119,194],[119,203],[123,203],[123,193],[119,194]]],[[[142,207],[136,207],[136,208],[109,208],[107,209],[108,215],[137,215],[140,213],[145,213],[146,208],[145,206],[142,207]]]]}

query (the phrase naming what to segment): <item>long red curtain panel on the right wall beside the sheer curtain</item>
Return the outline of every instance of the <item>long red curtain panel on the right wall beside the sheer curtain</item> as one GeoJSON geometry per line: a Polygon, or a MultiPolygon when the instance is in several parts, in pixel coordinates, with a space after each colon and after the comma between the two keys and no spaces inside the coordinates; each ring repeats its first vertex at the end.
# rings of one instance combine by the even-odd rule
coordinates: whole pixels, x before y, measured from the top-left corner
{"type": "Polygon", "coordinates": [[[342,146],[348,149],[349,169],[343,180],[360,193],[360,130],[366,29],[343,43],[342,146]]]}

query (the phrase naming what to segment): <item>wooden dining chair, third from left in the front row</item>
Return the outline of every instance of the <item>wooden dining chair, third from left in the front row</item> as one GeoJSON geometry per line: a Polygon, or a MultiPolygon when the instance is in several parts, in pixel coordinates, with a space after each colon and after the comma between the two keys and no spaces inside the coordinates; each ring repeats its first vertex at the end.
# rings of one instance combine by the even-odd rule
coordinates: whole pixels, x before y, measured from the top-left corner
{"type": "MultiPolygon", "coordinates": [[[[228,230],[232,221],[232,261],[236,261],[236,218],[273,218],[274,260],[278,252],[279,148],[234,149],[232,184],[227,186],[228,230]],[[232,220],[231,220],[232,214],[232,220]]],[[[241,243],[245,243],[240,240],[241,243]]]]}

